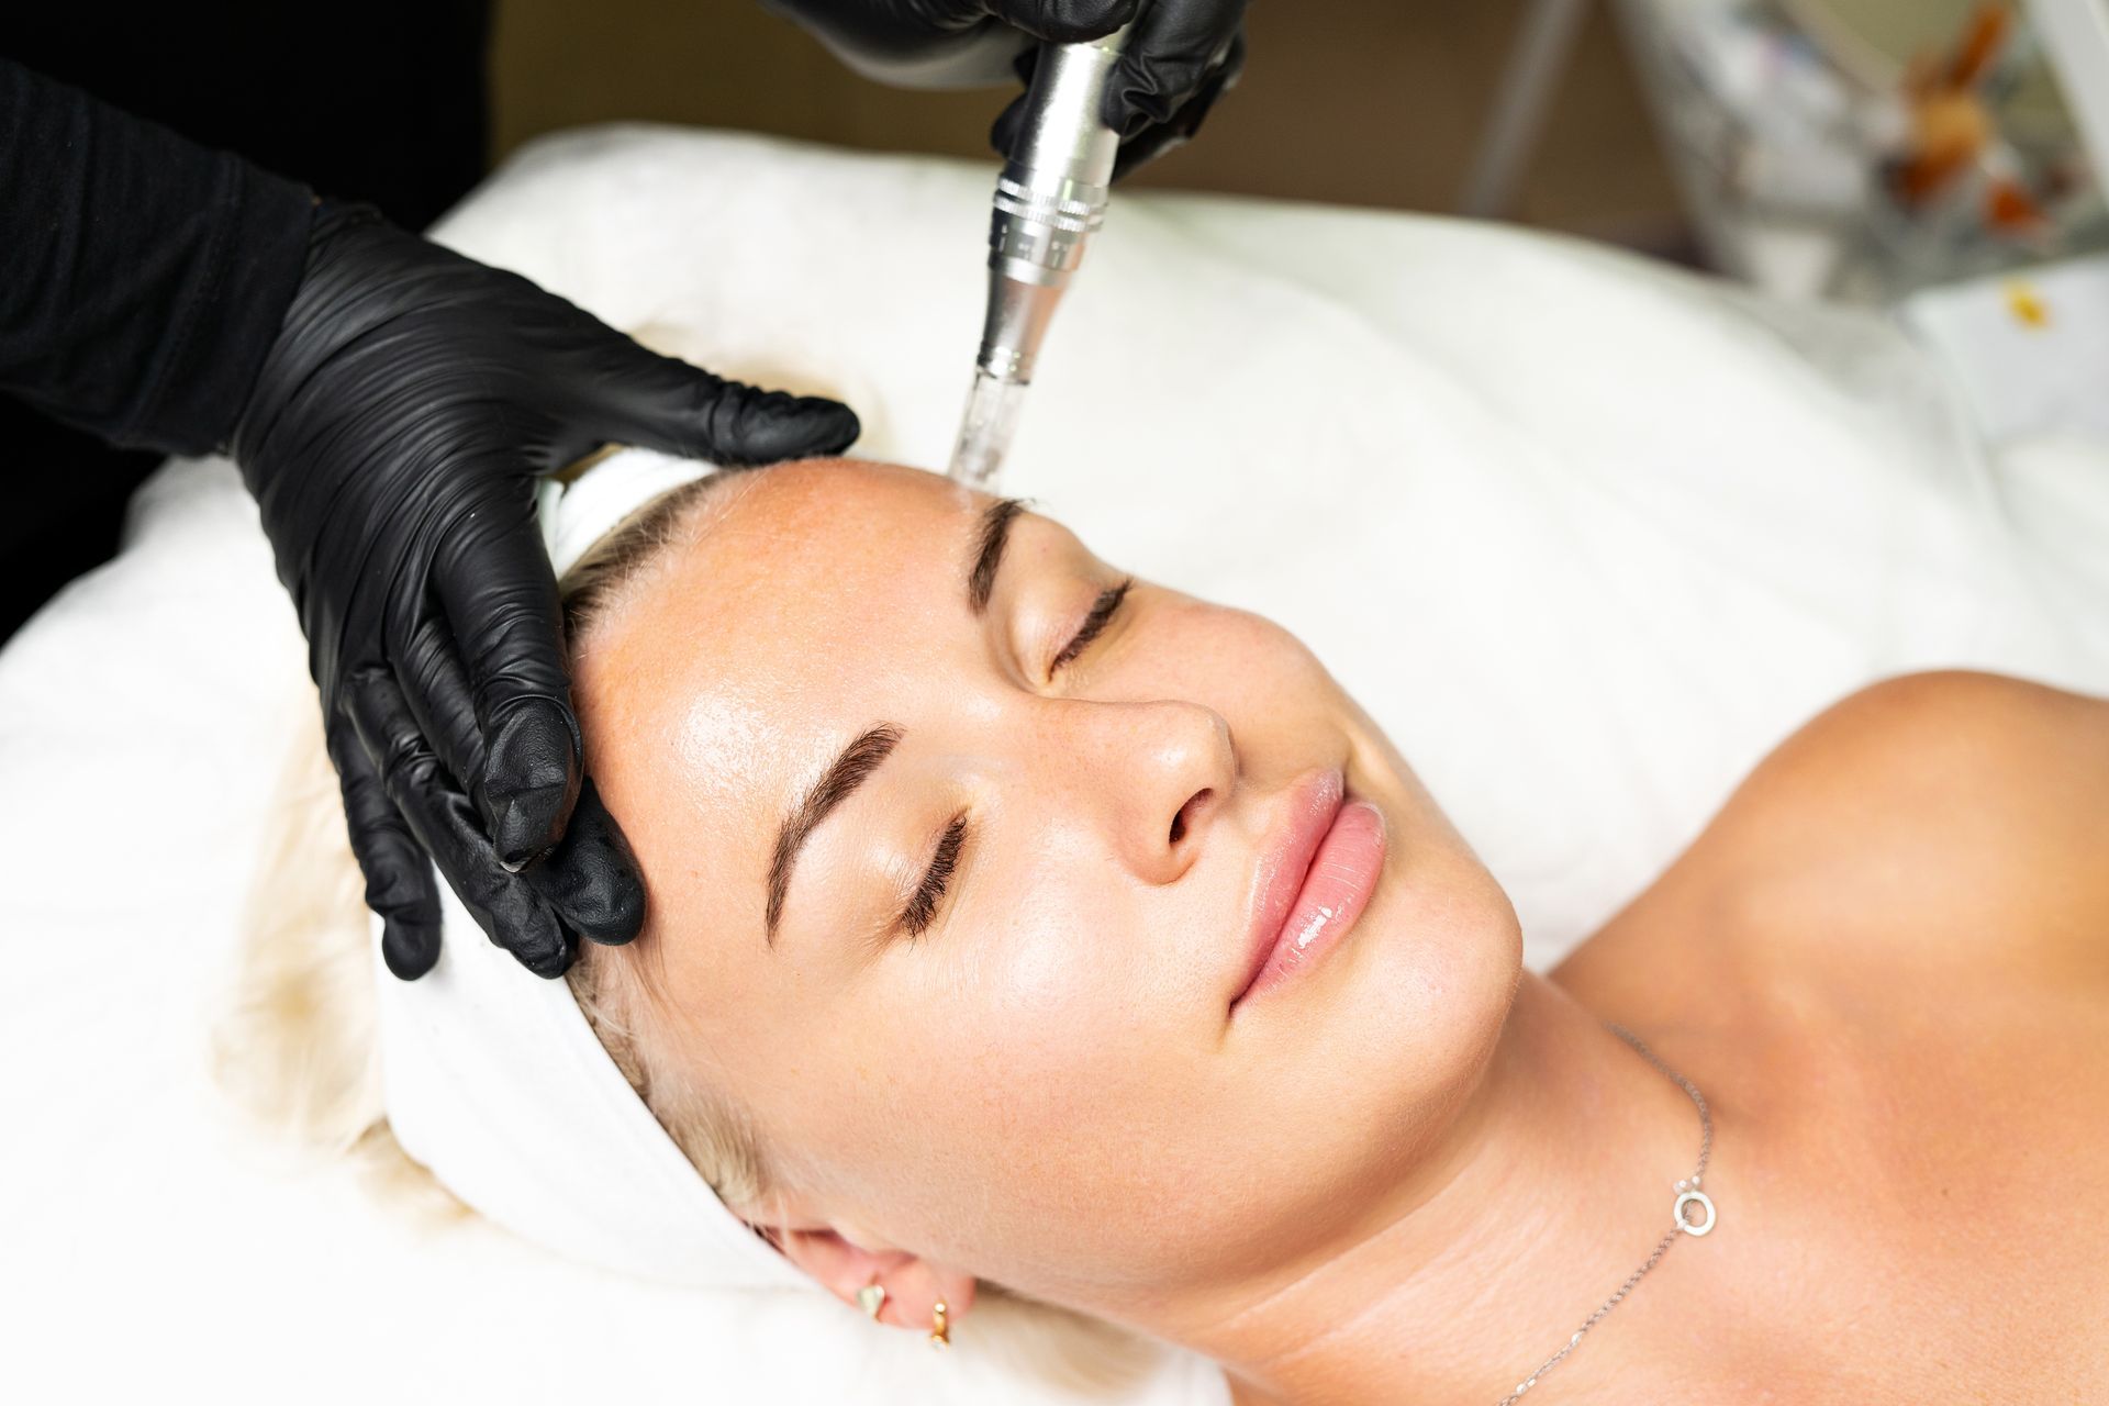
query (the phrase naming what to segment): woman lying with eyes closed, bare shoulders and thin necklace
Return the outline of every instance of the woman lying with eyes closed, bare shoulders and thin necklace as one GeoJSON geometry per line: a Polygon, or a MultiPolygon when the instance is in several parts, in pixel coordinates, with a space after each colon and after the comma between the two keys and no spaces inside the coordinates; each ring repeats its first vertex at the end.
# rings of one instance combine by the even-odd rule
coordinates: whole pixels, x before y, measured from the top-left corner
{"type": "Polygon", "coordinates": [[[652,890],[574,989],[725,1204],[888,1324],[1000,1284],[1255,1404],[2109,1370],[2109,704],[1854,696],[1540,978],[1295,639],[1017,504],[709,481],[569,618],[652,890]]]}

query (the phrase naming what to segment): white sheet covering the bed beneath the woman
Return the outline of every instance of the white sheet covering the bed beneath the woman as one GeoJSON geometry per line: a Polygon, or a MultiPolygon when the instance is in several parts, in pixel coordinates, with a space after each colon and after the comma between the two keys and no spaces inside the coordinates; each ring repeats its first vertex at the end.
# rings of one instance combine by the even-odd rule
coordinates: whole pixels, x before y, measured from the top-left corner
{"type": "MultiPolygon", "coordinates": [[[[591,131],[445,236],[715,369],[846,394],[863,453],[936,464],[991,175],[591,131]]],[[[1592,247],[1120,198],[1025,415],[1006,487],[1312,641],[1508,883],[1537,965],[1864,681],[2109,689],[2109,447],[1991,464],[1888,327],[1592,247]]],[[[251,1140],[205,1014],[299,685],[215,462],[148,485],[127,552],[0,653],[0,1395],[1078,1400],[1006,1374],[972,1320],[936,1360],[814,1296],[622,1284],[403,1225],[251,1140]]],[[[1221,1398],[1166,1358],[1124,1400],[1221,1398]]]]}

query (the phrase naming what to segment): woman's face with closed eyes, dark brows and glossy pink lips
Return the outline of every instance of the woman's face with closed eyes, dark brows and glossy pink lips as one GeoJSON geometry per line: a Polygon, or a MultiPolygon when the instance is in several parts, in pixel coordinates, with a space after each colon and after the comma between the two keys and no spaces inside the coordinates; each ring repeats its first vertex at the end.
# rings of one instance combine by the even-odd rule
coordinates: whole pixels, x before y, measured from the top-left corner
{"type": "Polygon", "coordinates": [[[736,1210],[1135,1317],[1373,1214],[1521,942],[1293,637],[1002,519],[907,468],[725,485],[588,634],[578,702],[650,887],[658,1058],[787,1180],[736,1210]],[[1375,816],[1341,812],[1320,898],[1367,906],[1238,999],[1331,778],[1375,816]]]}

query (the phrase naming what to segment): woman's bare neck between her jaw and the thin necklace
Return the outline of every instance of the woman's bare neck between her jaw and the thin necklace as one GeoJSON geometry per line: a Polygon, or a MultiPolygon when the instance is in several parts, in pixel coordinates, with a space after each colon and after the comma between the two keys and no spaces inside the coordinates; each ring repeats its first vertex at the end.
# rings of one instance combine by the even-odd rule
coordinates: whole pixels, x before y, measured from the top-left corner
{"type": "MultiPolygon", "coordinates": [[[[1691,1098],[1573,997],[1525,974],[1432,1157],[1335,1244],[1154,1328],[1223,1364],[1240,1402],[1495,1402],[1670,1229],[1675,1183],[1698,1147],[1691,1098]]],[[[1706,1256],[1668,1256],[1679,1258],[1706,1256]]],[[[1658,1296],[1668,1275],[1653,1271],[1658,1296]]],[[[1702,1265],[1677,1280],[1672,1317],[1689,1324],[1700,1309],[1689,1296],[1713,1277],[1702,1265]]],[[[1590,1360],[1647,1351],[1656,1322],[1622,1305],[1563,1364],[1567,1385],[1597,1374],[1590,1360]],[[1607,1339],[1622,1351],[1605,1351],[1607,1339]]]]}

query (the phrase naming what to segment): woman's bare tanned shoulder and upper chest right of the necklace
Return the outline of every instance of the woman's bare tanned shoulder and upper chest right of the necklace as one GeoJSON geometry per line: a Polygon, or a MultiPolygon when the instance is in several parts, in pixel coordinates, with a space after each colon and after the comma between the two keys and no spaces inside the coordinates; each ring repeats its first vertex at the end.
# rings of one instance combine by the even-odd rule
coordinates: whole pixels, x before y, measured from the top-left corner
{"type": "Polygon", "coordinates": [[[1666,1058],[1742,1119],[1713,1191],[1744,1176],[1769,1277],[1854,1355],[1940,1358],[1957,1400],[2101,1370],[2109,1227],[2073,1208],[2109,1195],[2109,704],[1970,672],[1862,689],[1554,980],[1689,1041],[1666,1058]],[[1810,1275],[1814,1246],[1837,1258],[1810,1275]]]}

